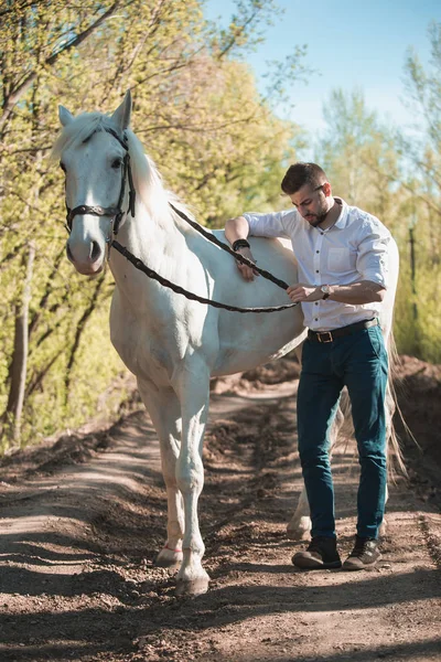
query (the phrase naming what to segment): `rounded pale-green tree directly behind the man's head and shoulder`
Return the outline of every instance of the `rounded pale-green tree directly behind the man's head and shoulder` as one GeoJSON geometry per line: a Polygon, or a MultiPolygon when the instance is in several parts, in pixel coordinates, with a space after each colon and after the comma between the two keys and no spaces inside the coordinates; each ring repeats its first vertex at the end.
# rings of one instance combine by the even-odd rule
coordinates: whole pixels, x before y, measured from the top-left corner
{"type": "Polygon", "coordinates": [[[380,124],[358,89],[351,95],[334,90],[324,117],[327,130],[319,146],[319,158],[334,192],[378,216],[398,243],[401,276],[395,335],[399,351],[421,356],[420,319],[415,314],[419,274],[415,271],[416,245],[409,245],[409,238],[415,239],[415,207],[400,183],[402,170],[395,129],[380,124]]]}

